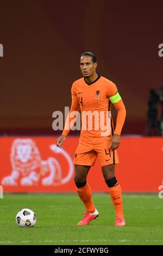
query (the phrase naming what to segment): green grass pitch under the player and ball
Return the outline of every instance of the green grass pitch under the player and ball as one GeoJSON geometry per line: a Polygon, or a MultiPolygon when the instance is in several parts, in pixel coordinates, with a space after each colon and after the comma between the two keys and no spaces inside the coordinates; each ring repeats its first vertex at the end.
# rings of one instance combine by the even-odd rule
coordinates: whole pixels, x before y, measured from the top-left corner
{"type": "Polygon", "coordinates": [[[4,194],[0,199],[0,245],[162,245],[163,199],[158,194],[123,194],[126,227],[115,227],[109,194],[93,193],[99,217],[77,226],[84,205],[77,194],[4,194]],[[37,222],[20,228],[15,216],[32,209],[37,222]]]}

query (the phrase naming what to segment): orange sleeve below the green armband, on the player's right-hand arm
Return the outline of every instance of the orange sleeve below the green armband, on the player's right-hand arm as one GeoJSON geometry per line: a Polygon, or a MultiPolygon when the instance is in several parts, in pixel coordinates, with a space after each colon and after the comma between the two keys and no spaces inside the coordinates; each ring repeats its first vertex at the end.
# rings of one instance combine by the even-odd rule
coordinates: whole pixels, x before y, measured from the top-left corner
{"type": "Polygon", "coordinates": [[[126,108],[123,104],[122,99],[114,104],[114,107],[117,110],[117,120],[116,120],[116,128],[114,133],[117,135],[121,135],[121,131],[124,125],[124,121],[126,118],[126,108]]]}

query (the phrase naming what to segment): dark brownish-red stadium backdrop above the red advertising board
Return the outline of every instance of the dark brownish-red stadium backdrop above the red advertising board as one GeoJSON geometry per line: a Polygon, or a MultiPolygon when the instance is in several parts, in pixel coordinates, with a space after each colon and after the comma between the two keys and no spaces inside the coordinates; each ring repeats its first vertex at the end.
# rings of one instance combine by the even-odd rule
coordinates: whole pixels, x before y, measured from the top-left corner
{"type": "Polygon", "coordinates": [[[1,1],[1,135],[56,134],[52,113],[70,106],[85,51],[119,89],[122,134],[143,135],[148,91],[163,83],[162,8],[161,1],[1,1]]]}

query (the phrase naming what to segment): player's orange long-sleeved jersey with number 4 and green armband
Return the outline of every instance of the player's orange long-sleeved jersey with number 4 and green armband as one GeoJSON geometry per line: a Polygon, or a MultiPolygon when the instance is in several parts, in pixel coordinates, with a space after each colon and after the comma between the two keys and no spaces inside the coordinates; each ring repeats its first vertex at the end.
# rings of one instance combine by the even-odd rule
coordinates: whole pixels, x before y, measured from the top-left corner
{"type": "MultiPolygon", "coordinates": [[[[122,99],[117,93],[117,87],[113,82],[99,75],[90,84],[86,83],[84,78],[80,78],[72,84],[71,94],[72,105],[69,115],[72,111],[80,110],[82,117],[81,138],[95,139],[111,137],[114,134],[114,125],[110,112],[113,98],[112,101],[115,102],[114,105],[117,111],[120,111],[119,117],[117,116],[115,133],[120,135],[126,111],[122,99]],[[115,99],[116,97],[117,100],[115,99]]],[[[67,135],[70,129],[71,127],[68,130],[64,129],[62,135],[67,135]]]]}

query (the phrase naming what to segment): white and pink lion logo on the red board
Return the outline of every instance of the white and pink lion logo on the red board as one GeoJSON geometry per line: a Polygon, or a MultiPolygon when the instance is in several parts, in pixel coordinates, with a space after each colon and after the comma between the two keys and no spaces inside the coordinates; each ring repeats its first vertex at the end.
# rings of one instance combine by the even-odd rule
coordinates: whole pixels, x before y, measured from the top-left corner
{"type": "Polygon", "coordinates": [[[52,144],[50,148],[54,153],[61,153],[66,157],[69,170],[65,178],[62,178],[61,166],[57,159],[48,157],[47,160],[41,160],[39,149],[33,139],[15,139],[10,155],[12,172],[2,179],[2,185],[17,186],[20,182],[22,186],[33,186],[40,181],[45,186],[65,184],[73,174],[71,157],[56,145],[52,144]]]}

